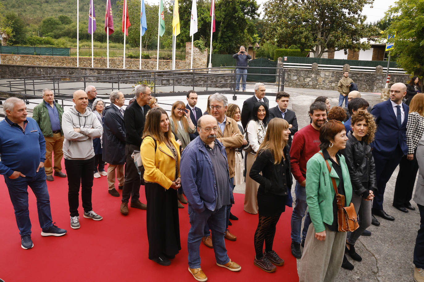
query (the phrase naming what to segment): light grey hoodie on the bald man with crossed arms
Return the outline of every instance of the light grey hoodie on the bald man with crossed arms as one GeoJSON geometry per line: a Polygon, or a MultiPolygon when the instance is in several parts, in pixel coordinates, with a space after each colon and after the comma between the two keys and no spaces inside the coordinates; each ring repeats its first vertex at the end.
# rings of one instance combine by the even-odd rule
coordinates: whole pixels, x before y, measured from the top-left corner
{"type": "Polygon", "coordinates": [[[88,108],[81,114],[75,105],[62,115],[63,154],[65,159],[85,160],[94,157],[93,138],[102,136],[103,127],[88,108]],[[75,132],[79,128],[80,132],[75,132]]]}

